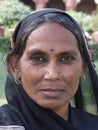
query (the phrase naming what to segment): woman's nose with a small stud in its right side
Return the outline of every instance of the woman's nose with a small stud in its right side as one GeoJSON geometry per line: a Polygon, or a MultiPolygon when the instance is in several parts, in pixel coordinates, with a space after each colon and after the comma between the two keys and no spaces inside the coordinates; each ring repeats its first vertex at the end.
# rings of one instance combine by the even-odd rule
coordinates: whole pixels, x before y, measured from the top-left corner
{"type": "Polygon", "coordinates": [[[48,65],[44,78],[46,80],[60,80],[62,78],[60,66],[55,63],[51,63],[50,65],[48,65]]]}

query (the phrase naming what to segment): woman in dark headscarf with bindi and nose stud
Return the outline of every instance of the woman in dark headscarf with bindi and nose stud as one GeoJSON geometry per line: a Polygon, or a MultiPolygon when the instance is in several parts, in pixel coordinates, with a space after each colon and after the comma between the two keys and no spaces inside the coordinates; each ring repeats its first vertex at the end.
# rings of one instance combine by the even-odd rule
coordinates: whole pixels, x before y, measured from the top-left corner
{"type": "Polygon", "coordinates": [[[98,129],[97,116],[70,106],[86,69],[94,76],[95,99],[98,89],[87,41],[71,16],[58,9],[31,13],[18,23],[11,45],[6,62],[16,84],[6,87],[8,104],[0,108],[1,125],[22,125],[26,130],[98,129]]]}

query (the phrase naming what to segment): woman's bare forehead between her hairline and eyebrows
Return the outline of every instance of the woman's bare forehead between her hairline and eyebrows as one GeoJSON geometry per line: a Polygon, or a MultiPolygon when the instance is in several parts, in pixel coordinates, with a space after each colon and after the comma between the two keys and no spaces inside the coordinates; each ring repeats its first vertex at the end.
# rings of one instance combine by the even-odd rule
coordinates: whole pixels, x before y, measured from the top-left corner
{"type": "Polygon", "coordinates": [[[53,50],[78,49],[78,42],[72,32],[57,23],[44,23],[28,37],[26,50],[34,48],[53,50]]]}

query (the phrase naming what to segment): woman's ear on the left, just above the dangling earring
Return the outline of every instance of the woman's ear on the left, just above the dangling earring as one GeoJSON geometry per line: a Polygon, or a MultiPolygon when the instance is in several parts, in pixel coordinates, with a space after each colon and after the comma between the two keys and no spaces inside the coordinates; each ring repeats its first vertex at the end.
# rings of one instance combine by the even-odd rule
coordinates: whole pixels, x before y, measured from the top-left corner
{"type": "Polygon", "coordinates": [[[10,58],[10,70],[13,77],[15,77],[18,73],[20,73],[19,61],[17,60],[15,56],[12,56],[10,58]]]}

